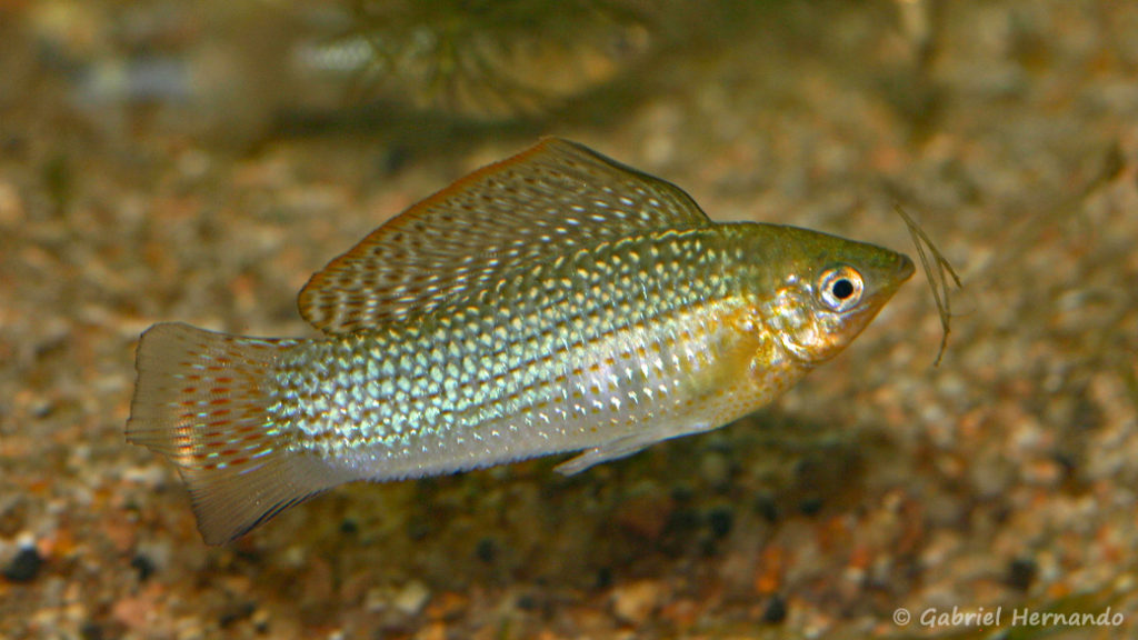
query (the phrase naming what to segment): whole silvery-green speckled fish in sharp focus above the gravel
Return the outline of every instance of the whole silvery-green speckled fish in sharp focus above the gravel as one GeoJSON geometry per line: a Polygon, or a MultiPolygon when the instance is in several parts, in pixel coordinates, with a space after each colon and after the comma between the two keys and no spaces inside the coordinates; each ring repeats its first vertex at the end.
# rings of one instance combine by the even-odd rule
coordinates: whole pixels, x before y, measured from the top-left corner
{"type": "Polygon", "coordinates": [[[716,223],[682,189],[546,138],[382,224],[299,294],[311,338],[163,322],[130,443],[209,544],[337,485],[715,429],[841,352],[914,271],[888,248],[716,223]]]}

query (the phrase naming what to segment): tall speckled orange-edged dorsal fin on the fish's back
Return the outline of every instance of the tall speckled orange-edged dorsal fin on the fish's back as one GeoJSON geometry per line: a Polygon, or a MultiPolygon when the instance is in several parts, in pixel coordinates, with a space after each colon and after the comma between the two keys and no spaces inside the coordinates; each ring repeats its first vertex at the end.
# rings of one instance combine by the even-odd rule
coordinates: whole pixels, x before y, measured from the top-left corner
{"type": "Polygon", "coordinates": [[[308,280],[304,319],[345,334],[426,312],[583,244],[710,224],[675,184],[547,138],[420,202],[308,280]]]}

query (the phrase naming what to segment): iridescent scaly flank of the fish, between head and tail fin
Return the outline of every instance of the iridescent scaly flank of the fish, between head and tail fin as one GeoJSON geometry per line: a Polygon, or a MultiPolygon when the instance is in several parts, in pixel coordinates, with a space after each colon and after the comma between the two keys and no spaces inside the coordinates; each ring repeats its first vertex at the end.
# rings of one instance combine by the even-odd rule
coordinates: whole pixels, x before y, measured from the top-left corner
{"type": "Polygon", "coordinates": [[[277,419],[298,427],[292,446],[376,479],[717,426],[748,402],[731,368],[753,350],[731,321],[748,301],[721,276],[733,246],[721,228],[602,243],[384,330],[302,344],[277,419]]]}

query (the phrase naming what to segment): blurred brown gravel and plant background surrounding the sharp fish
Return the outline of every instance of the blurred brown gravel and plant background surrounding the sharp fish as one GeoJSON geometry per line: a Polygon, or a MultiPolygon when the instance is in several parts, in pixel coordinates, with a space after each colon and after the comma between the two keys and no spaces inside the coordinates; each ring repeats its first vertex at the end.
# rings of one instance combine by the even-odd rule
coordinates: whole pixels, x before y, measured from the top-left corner
{"type": "Polygon", "coordinates": [[[0,633],[1133,634],[1135,33],[1111,0],[0,0],[0,633]],[[739,424],[206,547],[123,438],[139,334],[312,336],[314,271],[543,134],[717,220],[912,253],[904,206],[964,280],[943,361],[918,274],[739,424]],[[954,607],[1004,629],[922,623],[954,607]]]}

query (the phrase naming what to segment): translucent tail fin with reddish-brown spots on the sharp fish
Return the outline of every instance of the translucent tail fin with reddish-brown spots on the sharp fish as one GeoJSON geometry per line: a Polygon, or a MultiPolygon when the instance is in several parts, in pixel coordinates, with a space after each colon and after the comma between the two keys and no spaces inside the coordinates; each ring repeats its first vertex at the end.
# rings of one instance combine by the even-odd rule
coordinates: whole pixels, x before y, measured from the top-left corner
{"type": "Polygon", "coordinates": [[[294,344],[182,323],[142,334],[126,440],[178,466],[209,544],[349,479],[311,453],[291,451],[288,425],[267,412],[267,376],[294,344]]]}

